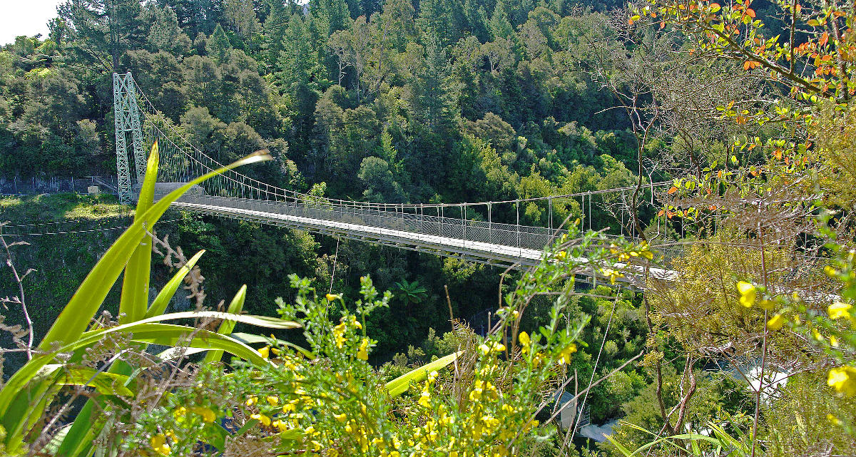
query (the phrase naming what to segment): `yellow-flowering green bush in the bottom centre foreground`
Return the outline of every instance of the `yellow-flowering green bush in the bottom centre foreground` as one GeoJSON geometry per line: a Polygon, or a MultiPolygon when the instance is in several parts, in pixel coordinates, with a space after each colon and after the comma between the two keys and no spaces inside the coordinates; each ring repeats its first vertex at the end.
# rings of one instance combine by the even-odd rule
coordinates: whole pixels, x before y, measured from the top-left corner
{"type": "Polygon", "coordinates": [[[552,409],[552,383],[565,375],[588,320],[580,315],[568,321],[563,315],[574,294],[574,273],[584,264],[604,270],[617,255],[627,261],[627,252],[633,258],[639,252],[650,256],[646,246],[603,249],[595,246],[596,239],[596,234],[574,241],[563,236],[540,267],[526,272],[503,297],[499,323],[488,335],[459,325],[458,352],[417,369],[407,391],[396,389],[395,381],[384,383],[366,361],[376,342],[366,334],[366,317],[388,306],[389,293],[379,294],[363,277],[360,300],[348,303],[336,294],[319,295],[305,278],[289,276],[294,302],[277,300],[277,311],[300,323],[308,347],[259,337],[255,341],[265,344],[259,353],[269,365],[235,362],[228,373],[222,365],[200,367],[199,382],[179,386],[168,401],[140,417],[128,445],[149,455],[187,454],[199,450],[199,442],[216,443],[227,455],[250,448],[384,457],[517,454],[549,436],[535,416],[548,404],[552,409]],[[549,324],[532,335],[519,332],[526,305],[548,293],[549,324]],[[218,428],[229,431],[218,438],[211,431],[218,428]]]}

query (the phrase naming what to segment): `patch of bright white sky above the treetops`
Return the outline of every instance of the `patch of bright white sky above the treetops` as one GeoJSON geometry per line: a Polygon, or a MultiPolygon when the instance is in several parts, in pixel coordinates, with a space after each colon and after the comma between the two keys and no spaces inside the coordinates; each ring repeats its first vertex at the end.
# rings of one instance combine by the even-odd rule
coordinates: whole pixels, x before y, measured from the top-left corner
{"type": "Polygon", "coordinates": [[[48,35],[48,21],[56,17],[56,5],[64,0],[0,0],[0,45],[15,37],[37,33],[48,35]]]}

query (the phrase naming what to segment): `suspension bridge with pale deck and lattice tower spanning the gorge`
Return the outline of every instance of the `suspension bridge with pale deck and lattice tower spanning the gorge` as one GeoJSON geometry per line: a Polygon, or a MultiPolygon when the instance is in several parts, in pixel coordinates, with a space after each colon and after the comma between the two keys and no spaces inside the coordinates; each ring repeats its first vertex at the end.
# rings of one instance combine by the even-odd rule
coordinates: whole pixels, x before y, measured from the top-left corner
{"type": "MultiPolygon", "coordinates": [[[[156,193],[168,192],[177,183],[223,167],[191,144],[181,129],[152,105],[130,73],[113,74],[113,90],[117,184],[122,202],[134,199],[134,188],[139,186],[146,170],[146,151],[156,139],[160,151],[156,193]]],[[[654,207],[655,188],[667,184],[671,183],[645,185],[651,207],[654,207]]],[[[624,217],[621,207],[627,206],[634,190],[635,187],[621,187],[479,203],[382,204],[298,193],[229,170],[194,187],[174,206],[216,217],[303,229],[484,264],[527,268],[538,265],[544,246],[565,233],[561,225],[569,214],[579,215],[583,227],[588,229],[603,228],[603,221],[597,227],[592,226],[592,211],[615,217],[615,225],[621,230],[631,225],[621,220],[624,217]],[[544,226],[522,224],[521,216],[528,221],[538,219],[544,226]]],[[[633,238],[635,233],[630,230],[627,236],[633,238]]],[[[674,274],[661,269],[651,269],[650,273],[663,278],[674,274]]],[[[624,280],[644,287],[639,279],[628,275],[624,280]]]]}

